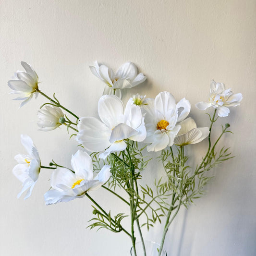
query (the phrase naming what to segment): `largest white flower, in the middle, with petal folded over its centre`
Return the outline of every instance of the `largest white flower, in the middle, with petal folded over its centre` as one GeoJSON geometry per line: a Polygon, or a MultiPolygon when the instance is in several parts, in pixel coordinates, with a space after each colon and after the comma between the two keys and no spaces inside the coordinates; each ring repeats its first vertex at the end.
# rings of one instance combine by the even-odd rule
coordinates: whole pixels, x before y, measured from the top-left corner
{"type": "Polygon", "coordinates": [[[120,98],[104,95],[98,101],[98,115],[83,117],[78,122],[76,138],[79,143],[93,152],[100,152],[100,158],[126,148],[125,139],[143,141],[146,137],[144,117],[139,106],[127,103],[125,109],[120,98]]]}

